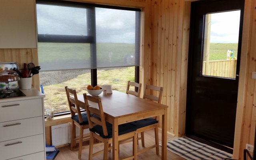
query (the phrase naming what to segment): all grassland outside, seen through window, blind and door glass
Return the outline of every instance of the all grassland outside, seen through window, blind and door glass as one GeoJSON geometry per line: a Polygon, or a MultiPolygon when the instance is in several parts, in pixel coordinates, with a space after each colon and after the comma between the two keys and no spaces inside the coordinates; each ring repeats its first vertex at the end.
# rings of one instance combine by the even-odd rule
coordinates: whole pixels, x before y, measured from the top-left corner
{"type": "MultiPolygon", "coordinates": [[[[234,57],[237,57],[237,46],[238,44],[229,43],[211,43],[210,44],[210,60],[226,60],[227,50],[233,49],[234,57]]],[[[98,53],[97,55],[102,60],[108,60],[109,52],[113,53],[113,60],[120,56],[124,56],[126,53],[134,53],[134,45],[132,44],[97,44],[98,53]],[[120,49],[113,49],[115,46],[121,46],[120,49]],[[120,55],[120,53],[122,53],[120,55]]],[[[118,47],[118,48],[119,48],[118,47]]],[[[57,59],[68,60],[70,58],[79,58],[88,60],[90,58],[90,45],[89,44],[51,44],[51,43],[38,43],[38,57],[40,62],[49,62],[57,59]],[[60,45],[60,46],[58,46],[60,45]],[[60,49],[61,48],[61,49],[60,49]],[[86,54],[84,54],[86,51],[86,54]],[[54,53],[54,54],[52,54],[54,53]],[[70,54],[76,53],[76,54],[70,54]]],[[[98,85],[112,84],[113,90],[120,92],[126,91],[127,81],[134,81],[134,67],[118,68],[113,70],[98,70],[98,85]]],[[[56,112],[69,111],[65,86],[74,88],[78,94],[87,93],[86,86],[91,84],[90,73],[79,75],[77,78],[68,80],[60,84],[54,84],[50,86],[44,86],[45,108],[54,108],[56,112]]]]}

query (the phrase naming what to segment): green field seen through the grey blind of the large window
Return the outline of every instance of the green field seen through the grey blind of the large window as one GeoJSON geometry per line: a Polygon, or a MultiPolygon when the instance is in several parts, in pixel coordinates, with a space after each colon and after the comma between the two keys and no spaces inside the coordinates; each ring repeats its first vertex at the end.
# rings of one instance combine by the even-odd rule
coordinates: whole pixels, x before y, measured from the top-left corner
{"type": "MultiPolygon", "coordinates": [[[[97,43],[97,60],[101,62],[120,62],[127,55],[135,55],[135,44],[97,43]]],[[[90,44],[85,43],[38,43],[38,59],[40,62],[56,62],[61,60],[89,60],[90,44]]]]}

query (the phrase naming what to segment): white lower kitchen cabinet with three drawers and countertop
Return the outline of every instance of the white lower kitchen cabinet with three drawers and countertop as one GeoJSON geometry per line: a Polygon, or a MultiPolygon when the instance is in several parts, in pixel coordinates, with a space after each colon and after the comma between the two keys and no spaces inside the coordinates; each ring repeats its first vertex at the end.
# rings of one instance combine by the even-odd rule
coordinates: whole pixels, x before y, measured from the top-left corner
{"type": "Polygon", "coordinates": [[[44,94],[21,91],[26,96],[0,99],[0,160],[46,160],[44,94]]]}

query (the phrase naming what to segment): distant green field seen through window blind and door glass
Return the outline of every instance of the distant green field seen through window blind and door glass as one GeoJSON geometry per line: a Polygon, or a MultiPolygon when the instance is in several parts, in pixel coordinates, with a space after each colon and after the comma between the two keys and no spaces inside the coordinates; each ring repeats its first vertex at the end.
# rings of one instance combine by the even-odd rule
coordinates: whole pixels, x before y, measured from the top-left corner
{"type": "MultiPolygon", "coordinates": [[[[97,43],[97,59],[112,61],[120,57],[134,55],[135,45],[124,43],[97,43]]],[[[210,60],[225,60],[228,49],[233,49],[237,57],[237,43],[211,43],[210,60]]],[[[84,43],[38,43],[38,58],[40,62],[56,62],[56,60],[83,59],[90,60],[90,44],[84,43]],[[54,53],[54,54],[52,54],[54,53]],[[71,54],[74,53],[74,54],[71,54]]]]}

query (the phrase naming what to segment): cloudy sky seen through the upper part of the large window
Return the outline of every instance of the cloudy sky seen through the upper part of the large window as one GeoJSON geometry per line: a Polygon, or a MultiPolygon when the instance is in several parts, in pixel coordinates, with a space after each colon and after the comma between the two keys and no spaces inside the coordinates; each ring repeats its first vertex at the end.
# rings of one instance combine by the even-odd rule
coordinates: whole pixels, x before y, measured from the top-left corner
{"type": "MultiPolygon", "coordinates": [[[[86,9],[37,4],[38,34],[87,35],[86,9]]],[[[96,8],[97,42],[135,43],[135,12],[96,8]]]]}

